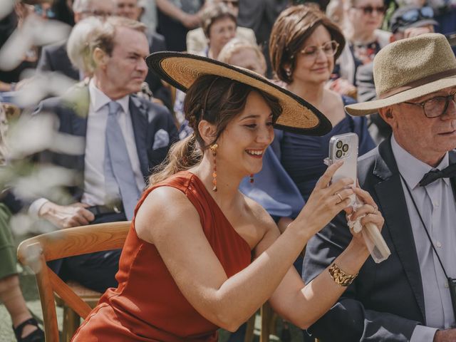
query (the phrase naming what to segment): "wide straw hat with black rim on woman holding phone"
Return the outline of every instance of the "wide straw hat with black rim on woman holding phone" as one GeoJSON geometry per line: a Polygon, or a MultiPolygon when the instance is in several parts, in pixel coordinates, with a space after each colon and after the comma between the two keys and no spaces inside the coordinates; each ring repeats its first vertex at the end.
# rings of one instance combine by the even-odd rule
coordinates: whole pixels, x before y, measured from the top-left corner
{"type": "Polygon", "coordinates": [[[203,56],[169,51],[152,53],[147,57],[146,63],[160,78],[184,92],[200,76],[216,75],[274,96],[282,108],[275,128],[304,135],[325,135],[332,129],[330,121],[313,105],[253,71],[203,56]]]}

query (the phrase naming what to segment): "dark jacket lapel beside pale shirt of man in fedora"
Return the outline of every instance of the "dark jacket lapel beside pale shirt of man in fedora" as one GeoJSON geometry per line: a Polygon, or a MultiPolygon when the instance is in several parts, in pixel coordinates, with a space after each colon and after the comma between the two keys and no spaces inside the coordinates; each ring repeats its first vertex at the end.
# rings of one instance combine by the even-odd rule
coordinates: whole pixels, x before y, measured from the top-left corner
{"type": "Polygon", "coordinates": [[[393,156],[390,140],[385,140],[379,146],[379,154],[375,161],[374,174],[383,181],[375,185],[385,222],[391,239],[403,264],[410,287],[420,307],[425,322],[425,301],[420,272],[420,264],[413,238],[412,226],[408,216],[407,204],[403,193],[402,183],[397,164],[393,156]]]}

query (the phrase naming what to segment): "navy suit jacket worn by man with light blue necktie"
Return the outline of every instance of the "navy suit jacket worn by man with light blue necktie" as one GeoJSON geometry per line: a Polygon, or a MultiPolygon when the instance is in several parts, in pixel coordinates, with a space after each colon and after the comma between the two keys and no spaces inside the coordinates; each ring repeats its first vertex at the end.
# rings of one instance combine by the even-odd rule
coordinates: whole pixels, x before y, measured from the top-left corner
{"type": "MultiPolygon", "coordinates": [[[[35,112],[35,115],[39,115],[41,112],[54,113],[58,118],[56,128],[58,133],[67,134],[68,143],[74,141],[69,138],[74,138],[76,141],[81,142],[80,153],[74,155],[46,150],[37,156],[39,162],[51,163],[77,172],[79,177],[76,180],[76,185],[68,187],[68,192],[77,201],[81,199],[83,194],[88,104],[88,86],[84,83],[78,83],[63,97],[43,100],[35,112]]],[[[146,180],[150,169],[160,164],[165,159],[170,145],[179,140],[177,128],[171,114],[162,105],[156,105],[142,98],[130,96],[129,108],[140,167],[142,175],[144,175],[146,180]],[[168,132],[170,135],[170,144],[153,150],[152,145],[154,143],[155,133],[160,129],[168,132]]]]}

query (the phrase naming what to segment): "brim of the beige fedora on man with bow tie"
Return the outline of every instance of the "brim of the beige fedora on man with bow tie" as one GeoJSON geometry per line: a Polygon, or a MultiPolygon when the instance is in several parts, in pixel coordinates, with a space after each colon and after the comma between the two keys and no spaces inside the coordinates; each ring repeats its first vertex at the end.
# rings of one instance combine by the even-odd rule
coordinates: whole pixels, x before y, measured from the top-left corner
{"type": "Polygon", "coordinates": [[[353,105],[346,105],[345,109],[348,114],[354,116],[372,114],[378,112],[378,109],[380,108],[388,107],[388,105],[395,105],[397,103],[410,101],[414,98],[420,98],[421,96],[434,93],[435,91],[454,86],[456,86],[456,76],[440,78],[440,80],[424,84],[423,86],[418,86],[415,88],[404,90],[403,92],[397,93],[388,98],[383,98],[381,100],[373,100],[369,102],[356,103],[353,105]]]}

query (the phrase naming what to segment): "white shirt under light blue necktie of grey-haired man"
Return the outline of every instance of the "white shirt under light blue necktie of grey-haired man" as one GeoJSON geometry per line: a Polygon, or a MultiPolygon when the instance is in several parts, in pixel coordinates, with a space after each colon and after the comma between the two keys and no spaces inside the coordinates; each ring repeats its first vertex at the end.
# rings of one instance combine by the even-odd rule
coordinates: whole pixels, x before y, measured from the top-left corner
{"type": "MultiPolygon", "coordinates": [[[[105,130],[108,120],[108,103],[111,99],[95,86],[90,80],[88,84],[90,103],[88,108],[87,133],[86,133],[86,154],[84,157],[84,192],[81,202],[84,204],[103,205],[105,204],[105,130]]],[[[122,108],[118,121],[120,129],[127,145],[128,157],[135,174],[136,185],[142,192],[145,188],[144,178],[140,168],[138,150],[136,149],[133,124],[130,116],[129,102],[130,96],[116,100],[122,108]]],[[[36,199],[31,204],[29,212],[38,214],[41,206],[48,202],[48,199],[36,199]]]]}

